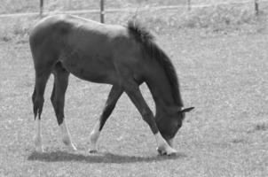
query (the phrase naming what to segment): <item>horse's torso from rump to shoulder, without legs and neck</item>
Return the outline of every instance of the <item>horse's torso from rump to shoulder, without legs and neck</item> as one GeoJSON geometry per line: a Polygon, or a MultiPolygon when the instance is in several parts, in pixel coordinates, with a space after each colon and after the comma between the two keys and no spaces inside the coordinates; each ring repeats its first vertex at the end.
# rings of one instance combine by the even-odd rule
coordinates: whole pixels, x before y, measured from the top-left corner
{"type": "Polygon", "coordinates": [[[145,64],[126,27],[70,15],[41,20],[30,34],[30,46],[35,68],[60,61],[70,73],[87,81],[113,84],[120,67],[137,75],[145,64]]]}

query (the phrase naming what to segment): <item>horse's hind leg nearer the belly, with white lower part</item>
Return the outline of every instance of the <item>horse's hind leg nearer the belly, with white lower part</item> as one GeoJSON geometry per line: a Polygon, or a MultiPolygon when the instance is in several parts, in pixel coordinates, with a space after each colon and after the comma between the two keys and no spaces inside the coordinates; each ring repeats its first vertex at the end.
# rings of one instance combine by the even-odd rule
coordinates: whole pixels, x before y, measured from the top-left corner
{"type": "Polygon", "coordinates": [[[55,65],[53,73],[54,87],[51,94],[51,103],[54,107],[60,131],[62,133],[62,141],[67,145],[70,150],[76,150],[75,145],[71,140],[66,120],[64,119],[64,102],[68,85],[69,73],[61,65],[61,63],[57,63],[55,65]]]}

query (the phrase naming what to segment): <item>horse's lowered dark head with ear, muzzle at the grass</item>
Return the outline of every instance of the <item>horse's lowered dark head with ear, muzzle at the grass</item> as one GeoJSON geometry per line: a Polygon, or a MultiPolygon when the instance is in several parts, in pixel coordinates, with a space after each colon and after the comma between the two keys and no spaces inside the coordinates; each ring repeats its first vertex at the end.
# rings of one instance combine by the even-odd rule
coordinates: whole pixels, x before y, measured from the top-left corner
{"type": "Polygon", "coordinates": [[[156,119],[157,127],[163,138],[172,146],[173,138],[177,134],[177,130],[182,127],[185,119],[185,112],[191,112],[194,107],[176,110],[167,113],[167,115],[159,115],[156,119]]]}

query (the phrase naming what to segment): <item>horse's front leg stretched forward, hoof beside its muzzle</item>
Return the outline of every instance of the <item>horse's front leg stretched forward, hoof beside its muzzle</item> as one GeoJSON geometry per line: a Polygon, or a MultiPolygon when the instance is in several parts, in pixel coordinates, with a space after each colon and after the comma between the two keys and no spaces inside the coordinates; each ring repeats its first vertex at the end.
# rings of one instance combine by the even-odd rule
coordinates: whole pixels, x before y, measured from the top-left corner
{"type": "Polygon", "coordinates": [[[154,119],[154,114],[150,110],[149,106],[146,104],[146,101],[142,96],[140,89],[138,88],[138,84],[135,81],[128,80],[124,83],[124,89],[127,95],[130,96],[130,99],[133,104],[135,104],[135,106],[137,107],[138,112],[140,112],[140,114],[142,115],[142,118],[151,128],[157,143],[158,152],[161,155],[176,154],[177,150],[172,149],[169,146],[168,142],[166,142],[160,134],[154,119]]]}

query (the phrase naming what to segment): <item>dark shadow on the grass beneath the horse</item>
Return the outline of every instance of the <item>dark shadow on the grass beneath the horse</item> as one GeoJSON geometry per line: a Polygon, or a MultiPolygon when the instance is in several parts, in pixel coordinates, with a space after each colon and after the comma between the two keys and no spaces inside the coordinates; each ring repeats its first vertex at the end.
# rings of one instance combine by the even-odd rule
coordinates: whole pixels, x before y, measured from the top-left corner
{"type": "Polygon", "coordinates": [[[44,161],[44,162],[61,162],[61,161],[77,161],[82,163],[109,163],[109,164],[125,164],[125,163],[136,163],[136,162],[153,162],[153,161],[164,161],[174,160],[177,158],[185,158],[186,155],[183,153],[177,153],[174,156],[154,156],[154,157],[137,157],[137,156],[126,156],[112,154],[109,152],[100,152],[96,154],[78,154],[70,153],[67,151],[52,151],[52,152],[33,152],[29,155],[28,160],[32,161],[44,161]]]}

